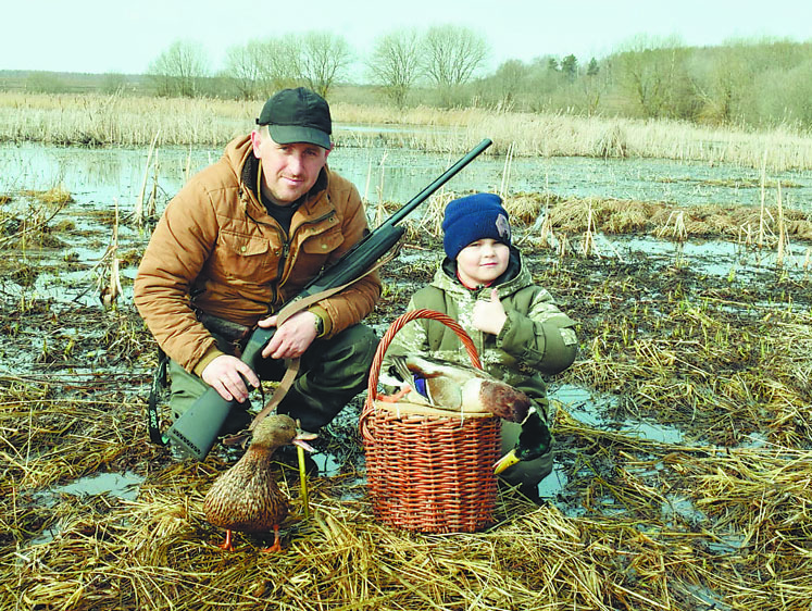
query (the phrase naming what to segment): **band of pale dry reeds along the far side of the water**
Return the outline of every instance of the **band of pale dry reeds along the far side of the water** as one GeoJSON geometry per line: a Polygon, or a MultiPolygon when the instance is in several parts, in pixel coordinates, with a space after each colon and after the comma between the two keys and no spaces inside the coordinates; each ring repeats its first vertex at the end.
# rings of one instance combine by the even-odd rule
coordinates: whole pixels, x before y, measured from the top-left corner
{"type": "MultiPolygon", "coordinates": [[[[332,110],[338,146],[384,144],[455,154],[489,137],[495,144],[487,154],[701,160],[770,172],[812,167],[812,137],[787,128],[741,132],[674,121],[424,107],[396,111],[340,102],[332,110]],[[360,133],[352,125],[386,129],[360,133]],[[403,129],[391,129],[396,125],[403,129]]],[[[0,141],[149,146],[158,136],[159,146],[220,148],[250,129],[257,112],[257,102],[0,92],[0,141]]]]}

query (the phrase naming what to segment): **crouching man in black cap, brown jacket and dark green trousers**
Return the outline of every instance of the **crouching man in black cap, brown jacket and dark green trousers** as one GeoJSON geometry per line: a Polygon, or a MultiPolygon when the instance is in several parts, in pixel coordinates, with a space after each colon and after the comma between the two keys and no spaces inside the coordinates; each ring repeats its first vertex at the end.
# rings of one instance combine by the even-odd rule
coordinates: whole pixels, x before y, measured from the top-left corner
{"type": "MultiPolygon", "coordinates": [[[[257,128],[166,205],[138,269],[135,303],[171,358],[175,417],[210,386],[248,407],[246,381],[255,388],[279,379],[285,359],[300,358],[302,373],[277,411],[308,432],[365,388],[377,338],[360,322],[380,296],[376,274],[286,320],[257,371],[222,332],[233,323],[276,326],[280,306],[368,230],[358,190],[327,167],[330,134],[323,98],[302,87],[279,91],[257,128]]],[[[245,410],[233,412],[221,433],[250,422],[245,410]]]]}

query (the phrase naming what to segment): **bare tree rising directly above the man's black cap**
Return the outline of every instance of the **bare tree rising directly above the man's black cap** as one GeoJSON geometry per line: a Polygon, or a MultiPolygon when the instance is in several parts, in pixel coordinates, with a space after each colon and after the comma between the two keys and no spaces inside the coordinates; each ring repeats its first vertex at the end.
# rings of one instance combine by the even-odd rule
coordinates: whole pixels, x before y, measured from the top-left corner
{"type": "Polygon", "coordinates": [[[323,98],[333,84],[345,76],[352,51],[343,36],[332,32],[310,32],[301,36],[297,72],[323,98]]]}

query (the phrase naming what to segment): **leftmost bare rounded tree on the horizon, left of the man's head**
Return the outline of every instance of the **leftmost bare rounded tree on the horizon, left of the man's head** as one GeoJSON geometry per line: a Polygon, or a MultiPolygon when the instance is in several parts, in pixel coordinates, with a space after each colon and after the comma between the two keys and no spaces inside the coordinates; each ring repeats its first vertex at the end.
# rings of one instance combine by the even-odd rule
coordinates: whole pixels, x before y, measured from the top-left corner
{"type": "Polygon", "coordinates": [[[159,95],[195,97],[201,79],[209,76],[209,60],[203,46],[191,40],[176,40],[150,63],[149,75],[159,95]]]}

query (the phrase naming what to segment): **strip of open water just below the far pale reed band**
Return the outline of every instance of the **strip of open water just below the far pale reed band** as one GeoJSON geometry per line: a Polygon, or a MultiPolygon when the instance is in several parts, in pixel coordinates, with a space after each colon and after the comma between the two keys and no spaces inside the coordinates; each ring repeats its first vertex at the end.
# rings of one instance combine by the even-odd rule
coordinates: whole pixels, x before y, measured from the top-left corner
{"type": "MultiPolygon", "coordinates": [[[[222,150],[161,148],[155,153],[159,191],[165,199],[191,174],[216,161],[222,150]]],[[[460,157],[385,148],[341,147],[329,157],[330,167],[351,180],[371,202],[405,202],[423,190],[460,157]]],[[[48,189],[63,185],[77,201],[127,209],[140,194],[148,149],[58,148],[25,144],[0,147],[0,191],[48,189]]],[[[498,190],[504,159],[482,154],[453,177],[446,189],[498,190]]],[[[153,171],[150,171],[151,182],[153,171]]],[[[783,203],[805,210],[812,201],[812,172],[784,172],[783,203]]],[[[672,201],[680,204],[759,205],[757,170],[734,165],[657,159],[520,158],[512,161],[510,190],[551,191],[562,197],[672,201]]],[[[151,183],[150,183],[151,184],[151,183]]],[[[770,189],[767,201],[776,199],[770,189]]]]}

